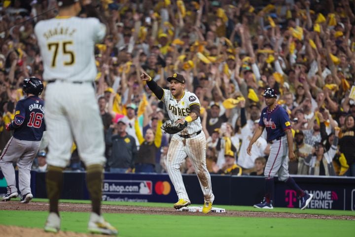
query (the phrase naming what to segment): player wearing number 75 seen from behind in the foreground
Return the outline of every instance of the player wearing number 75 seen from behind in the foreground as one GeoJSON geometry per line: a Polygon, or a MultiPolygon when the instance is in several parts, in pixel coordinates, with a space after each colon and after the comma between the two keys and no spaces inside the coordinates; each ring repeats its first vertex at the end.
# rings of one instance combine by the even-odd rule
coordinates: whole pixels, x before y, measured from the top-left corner
{"type": "Polygon", "coordinates": [[[105,143],[103,122],[95,98],[93,81],[97,70],[94,46],[103,40],[106,27],[95,17],[79,18],[84,8],[99,17],[90,0],[58,0],[58,16],[39,21],[35,34],[43,59],[48,131],[46,175],[49,215],[44,230],[60,230],[58,200],[63,186],[62,171],[70,162],[75,138],[79,156],[86,166],[86,182],[92,203],[90,233],[117,235],[101,215],[105,143]]]}

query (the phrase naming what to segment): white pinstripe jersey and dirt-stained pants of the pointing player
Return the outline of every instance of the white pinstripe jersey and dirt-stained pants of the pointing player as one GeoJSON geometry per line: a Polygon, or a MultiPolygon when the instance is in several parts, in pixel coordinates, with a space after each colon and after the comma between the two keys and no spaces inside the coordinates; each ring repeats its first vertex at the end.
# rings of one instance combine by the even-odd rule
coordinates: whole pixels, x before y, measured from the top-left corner
{"type": "MultiPolygon", "coordinates": [[[[201,106],[197,96],[188,91],[183,92],[180,101],[177,101],[170,90],[164,89],[162,101],[167,107],[169,117],[174,121],[188,116],[191,105],[201,106]]],[[[167,154],[167,171],[178,194],[178,199],[184,199],[189,202],[190,199],[186,193],[179,169],[186,156],[191,159],[195,168],[205,201],[213,202],[214,200],[211,176],[206,167],[206,137],[201,130],[200,118],[189,122],[184,130],[173,135],[167,154]],[[180,135],[188,135],[189,137],[183,138],[180,135]]]]}

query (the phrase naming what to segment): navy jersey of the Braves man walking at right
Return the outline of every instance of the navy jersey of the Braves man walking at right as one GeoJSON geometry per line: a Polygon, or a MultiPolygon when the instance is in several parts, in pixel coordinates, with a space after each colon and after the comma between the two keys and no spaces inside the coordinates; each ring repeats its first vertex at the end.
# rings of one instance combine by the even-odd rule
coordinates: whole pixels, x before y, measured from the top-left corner
{"type": "Polygon", "coordinates": [[[268,107],[261,111],[259,126],[266,127],[266,140],[269,142],[283,137],[284,131],[291,128],[291,122],[284,108],[277,104],[272,111],[269,111],[268,107]]]}

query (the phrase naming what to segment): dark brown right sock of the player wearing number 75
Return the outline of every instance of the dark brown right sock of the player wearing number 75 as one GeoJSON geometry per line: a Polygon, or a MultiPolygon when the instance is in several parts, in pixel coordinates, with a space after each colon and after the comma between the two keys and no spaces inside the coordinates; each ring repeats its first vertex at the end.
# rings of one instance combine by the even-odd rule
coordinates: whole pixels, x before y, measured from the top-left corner
{"type": "Polygon", "coordinates": [[[92,211],[100,216],[102,199],[103,166],[93,164],[86,169],[86,185],[90,193],[92,211]]]}

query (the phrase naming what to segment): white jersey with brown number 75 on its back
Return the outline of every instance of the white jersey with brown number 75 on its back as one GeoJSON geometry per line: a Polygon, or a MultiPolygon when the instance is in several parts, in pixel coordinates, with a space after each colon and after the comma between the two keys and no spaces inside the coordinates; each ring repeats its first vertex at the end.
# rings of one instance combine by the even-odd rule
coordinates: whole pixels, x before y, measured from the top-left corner
{"type": "Polygon", "coordinates": [[[95,43],[106,34],[97,18],[56,17],[39,21],[35,34],[43,60],[43,79],[93,81],[95,43]]]}

